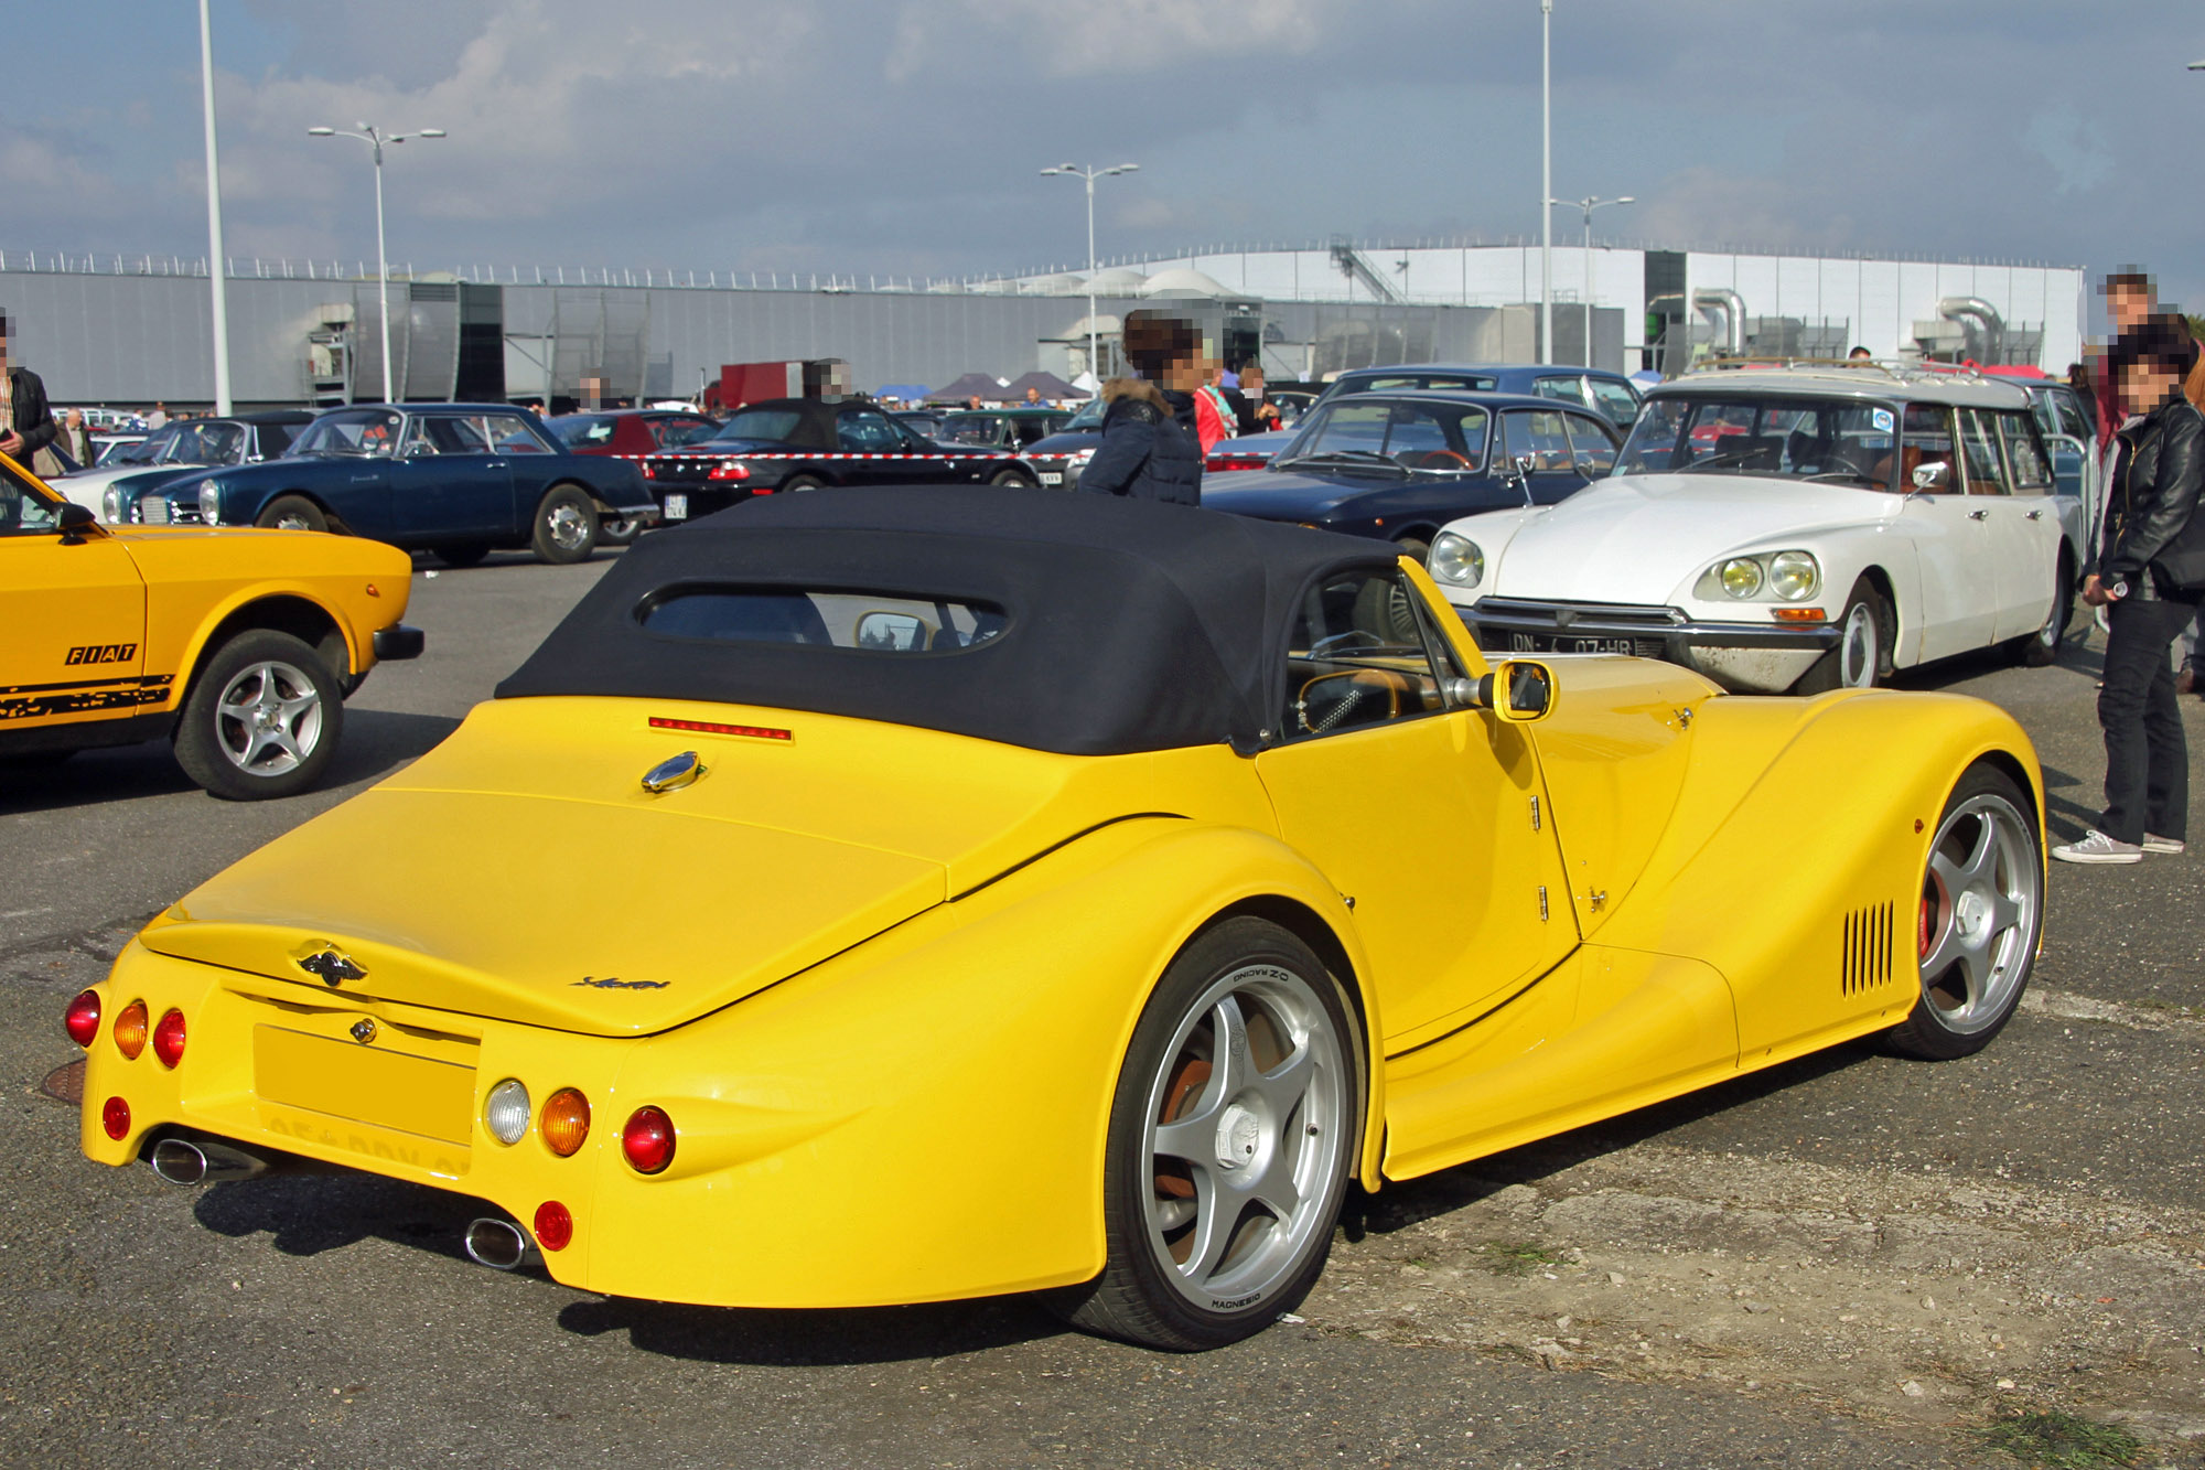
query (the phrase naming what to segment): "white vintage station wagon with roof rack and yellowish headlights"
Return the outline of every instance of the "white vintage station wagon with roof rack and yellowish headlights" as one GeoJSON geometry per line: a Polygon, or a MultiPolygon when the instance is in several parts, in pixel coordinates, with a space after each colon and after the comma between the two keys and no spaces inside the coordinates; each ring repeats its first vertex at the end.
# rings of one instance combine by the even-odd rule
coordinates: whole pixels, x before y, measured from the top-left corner
{"type": "Polygon", "coordinates": [[[1654,388],[1612,477],[1446,525],[1431,574],[1486,649],[1819,693],[1998,645],[2048,664],[2086,536],[2009,382],[1722,369],[1654,388]]]}

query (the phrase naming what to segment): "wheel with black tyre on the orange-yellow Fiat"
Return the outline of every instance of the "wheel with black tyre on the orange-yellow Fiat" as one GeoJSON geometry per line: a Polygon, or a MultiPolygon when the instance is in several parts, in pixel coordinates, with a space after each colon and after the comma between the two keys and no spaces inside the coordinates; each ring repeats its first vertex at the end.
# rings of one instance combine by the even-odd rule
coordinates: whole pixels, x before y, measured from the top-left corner
{"type": "Polygon", "coordinates": [[[225,801],[293,797],[322,779],[342,733],[344,686],[322,656],[291,633],[249,629],[201,664],[176,722],[176,764],[225,801]]]}

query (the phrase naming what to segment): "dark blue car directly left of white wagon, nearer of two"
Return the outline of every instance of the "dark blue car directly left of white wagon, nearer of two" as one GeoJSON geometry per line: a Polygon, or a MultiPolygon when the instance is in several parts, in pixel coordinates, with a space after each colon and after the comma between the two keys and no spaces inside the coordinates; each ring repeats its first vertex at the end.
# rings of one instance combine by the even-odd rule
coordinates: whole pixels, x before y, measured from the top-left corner
{"type": "Polygon", "coordinates": [[[1270,468],[1204,477],[1202,505],[1398,541],[1422,561],[1449,521],[1552,505],[1614,464],[1614,424],[1550,397],[1349,393],[1310,408],[1270,468]]]}

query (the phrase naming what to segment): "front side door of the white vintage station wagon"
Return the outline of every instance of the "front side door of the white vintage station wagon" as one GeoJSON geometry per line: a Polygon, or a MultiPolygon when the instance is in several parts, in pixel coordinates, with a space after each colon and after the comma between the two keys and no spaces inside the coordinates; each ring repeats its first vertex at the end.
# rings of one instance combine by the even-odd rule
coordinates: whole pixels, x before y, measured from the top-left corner
{"type": "Polygon", "coordinates": [[[1998,574],[1991,569],[1991,512],[1967,494],[1960,428],[1945,404],[1907,404],[1901,424],[1899,483],[1912,488],[1918,470],[1943,466],[1929,490],[1912,488],[1899,505],[1899,528],[1914,550],[1910,567],[1914,607],[1901,587],[1899,660],[1921,662],[1980,649],[1998,629],[1998,574]],[[1921,633],[1907,656],[1910,627],[1921,633]]]}

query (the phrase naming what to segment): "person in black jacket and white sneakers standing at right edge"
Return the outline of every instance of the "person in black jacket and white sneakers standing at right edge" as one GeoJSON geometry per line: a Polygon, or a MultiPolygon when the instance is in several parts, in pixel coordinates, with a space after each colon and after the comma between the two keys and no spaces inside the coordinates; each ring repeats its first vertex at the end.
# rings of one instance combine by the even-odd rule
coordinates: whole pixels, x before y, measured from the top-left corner
{"type": "Polygon", "coordinates": [[[2181,318],[2154,316],[2112,347],[2130,413],[2121,466],[2106,488],[2106,528],[2082,596],[2106,607],[2106,810],[2068,863],[2137,863],[2181,852],[2190,819],[2190,750],[2168,658],[2205,600],[2205,415],[2183,397],[2198,347],[2181,318]]]}

